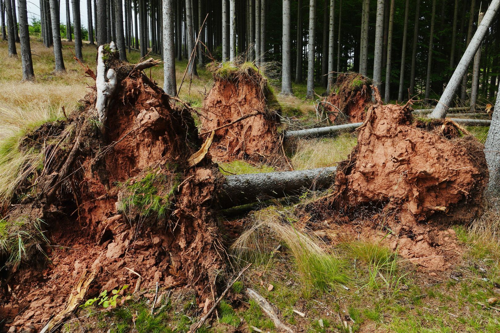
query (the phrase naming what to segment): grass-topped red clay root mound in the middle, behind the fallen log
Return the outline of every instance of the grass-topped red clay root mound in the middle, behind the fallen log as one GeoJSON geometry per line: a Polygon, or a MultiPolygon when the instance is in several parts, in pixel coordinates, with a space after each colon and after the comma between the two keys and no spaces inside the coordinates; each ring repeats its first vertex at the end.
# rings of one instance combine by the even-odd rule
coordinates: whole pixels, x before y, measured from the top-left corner
{"type": "Polygon", "coordinates": [[[212,64],[211,68],[214,84],[200,118],[203,137],[215,131],[209,150],[212,158],[217,162],[272,160],[280,152],[280,109],[267,80],[250,63],[212,64]]]}

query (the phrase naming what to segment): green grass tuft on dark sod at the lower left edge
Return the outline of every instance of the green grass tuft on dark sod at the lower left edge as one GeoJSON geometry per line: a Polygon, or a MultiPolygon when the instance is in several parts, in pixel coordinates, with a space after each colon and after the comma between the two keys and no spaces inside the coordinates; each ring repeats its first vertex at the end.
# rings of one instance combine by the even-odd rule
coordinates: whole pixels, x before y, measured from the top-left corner
{"type": "Polygon", "coordinates": [[[6,259],[5,266],[29,260],[35,252],[44,253],[42,246],[48,244],[48,239],[41,229],[42,223],[27,216],[0,220],[0,254],[6,259]]]}

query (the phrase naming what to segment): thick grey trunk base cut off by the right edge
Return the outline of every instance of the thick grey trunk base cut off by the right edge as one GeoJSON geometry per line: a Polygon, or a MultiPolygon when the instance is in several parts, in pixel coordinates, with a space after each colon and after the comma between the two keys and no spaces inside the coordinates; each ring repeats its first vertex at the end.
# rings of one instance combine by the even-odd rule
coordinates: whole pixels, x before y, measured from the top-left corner
{"type": "MultiPolygon", "coordinates": [[[[491,6],[491,4],[490,4],[491,6]]],[[[489,10],[489,9],[488,9],[489,10]]],[[[487,12],[486,12],[487,15],[487,12]]],[[[500,84],[498,85],[500,88],[500,84]]],[[[491,116],[486,142],[484,143],[484,157],[488,164],[489,181],[486,189],[486,197],[493,207],[500,207],[500,91],[496,94],[496,102],[491,116]]]]}

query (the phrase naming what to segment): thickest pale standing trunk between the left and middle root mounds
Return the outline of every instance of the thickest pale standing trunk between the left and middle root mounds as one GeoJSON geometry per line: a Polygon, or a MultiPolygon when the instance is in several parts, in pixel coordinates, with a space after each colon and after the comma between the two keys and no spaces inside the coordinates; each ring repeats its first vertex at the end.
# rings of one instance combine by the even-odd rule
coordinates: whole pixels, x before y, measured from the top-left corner
{"type": "Polygon", "coordinates": [[[170,96],[177,94],[175,83],[175,44],[173,41],[173,1],[163,0],[163,90],[170,96]]]}

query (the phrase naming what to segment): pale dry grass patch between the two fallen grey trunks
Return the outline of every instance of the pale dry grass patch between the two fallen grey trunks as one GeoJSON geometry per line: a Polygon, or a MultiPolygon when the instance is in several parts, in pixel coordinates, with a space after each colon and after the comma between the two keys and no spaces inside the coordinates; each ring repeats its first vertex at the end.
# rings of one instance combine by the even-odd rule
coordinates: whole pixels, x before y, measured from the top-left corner
{"type": "Polygon", "coordinates": [[[356,137],[349,133],[335,138],[299,139],[290,161],[295,170],[332,166],[345,160],[356,143],[356,137]]]}

